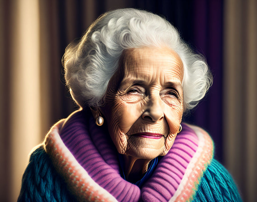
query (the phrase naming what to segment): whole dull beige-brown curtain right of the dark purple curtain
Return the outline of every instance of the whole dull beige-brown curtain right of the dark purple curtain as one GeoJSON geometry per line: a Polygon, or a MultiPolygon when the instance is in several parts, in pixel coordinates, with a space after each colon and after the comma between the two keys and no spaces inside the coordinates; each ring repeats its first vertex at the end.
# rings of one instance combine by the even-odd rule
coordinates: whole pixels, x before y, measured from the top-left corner
{"type": "Polygon", "coordinates": [[[256,201],[257,1],[224,6],[224,157],[244,201],[256,201]]]}

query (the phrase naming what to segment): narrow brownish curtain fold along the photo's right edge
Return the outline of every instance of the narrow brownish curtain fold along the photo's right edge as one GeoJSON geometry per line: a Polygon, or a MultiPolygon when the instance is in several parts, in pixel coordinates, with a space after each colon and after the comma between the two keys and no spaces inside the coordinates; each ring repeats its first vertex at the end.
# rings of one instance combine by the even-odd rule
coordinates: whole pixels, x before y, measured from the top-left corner
{"type": "MultiPolygon", "coordinates": [[[[256,201],[257,184],[257,1],[248,0],[246,15],[246,200],[256,201]]],[[[243,169],[242,169],[243,170],[243,169]]],[[[245,186],[245,185],[241,185],[245,186]]]]}

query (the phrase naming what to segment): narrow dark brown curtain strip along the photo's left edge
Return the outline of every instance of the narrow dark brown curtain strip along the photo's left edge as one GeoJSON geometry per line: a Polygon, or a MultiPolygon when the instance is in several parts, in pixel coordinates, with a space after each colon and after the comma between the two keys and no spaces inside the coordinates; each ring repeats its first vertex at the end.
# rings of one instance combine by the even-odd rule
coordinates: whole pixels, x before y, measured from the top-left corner
{"type": "Polygon", "coordinates": [[[10,127],[9,127],[9,30],[10,30],[10,3],[0,1],[0,201],[9,202],[11,187],[9,186],[10,168],[10,127]]]}

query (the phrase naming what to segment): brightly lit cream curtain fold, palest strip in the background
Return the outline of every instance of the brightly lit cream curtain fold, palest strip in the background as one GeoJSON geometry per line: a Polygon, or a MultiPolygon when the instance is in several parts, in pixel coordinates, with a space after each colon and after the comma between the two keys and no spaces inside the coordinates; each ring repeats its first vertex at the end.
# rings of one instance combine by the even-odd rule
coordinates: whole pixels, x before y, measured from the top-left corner
{"type": "Polygon", "coordinates": [[[11,1],[11,11],[9,183],[16,201],[28,154],[41,140],[38,1],[11,1]]]}

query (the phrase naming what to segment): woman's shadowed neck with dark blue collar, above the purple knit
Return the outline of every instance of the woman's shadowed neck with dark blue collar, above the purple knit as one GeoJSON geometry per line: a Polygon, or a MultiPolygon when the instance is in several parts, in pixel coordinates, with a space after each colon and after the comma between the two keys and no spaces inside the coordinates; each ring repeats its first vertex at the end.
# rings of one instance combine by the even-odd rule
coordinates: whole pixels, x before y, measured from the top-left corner
{"type": "Polygon", "coordinates": [[[124,174],[129,182],[140,180],[148,169],[151,159],[140,159],[133,156],[123,155],[124,157],[124,174]]]}

